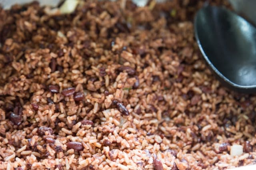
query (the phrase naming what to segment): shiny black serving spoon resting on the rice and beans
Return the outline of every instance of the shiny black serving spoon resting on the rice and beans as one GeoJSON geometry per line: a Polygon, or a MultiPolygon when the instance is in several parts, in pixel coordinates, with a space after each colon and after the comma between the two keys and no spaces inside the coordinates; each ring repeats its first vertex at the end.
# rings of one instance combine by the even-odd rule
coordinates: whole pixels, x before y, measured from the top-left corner
{"type": "Polygon", "coordinates": [[[196,41],[220,81],[242,93],[256,92],[256,28],[224,7],[196,14],[196,41]]]}

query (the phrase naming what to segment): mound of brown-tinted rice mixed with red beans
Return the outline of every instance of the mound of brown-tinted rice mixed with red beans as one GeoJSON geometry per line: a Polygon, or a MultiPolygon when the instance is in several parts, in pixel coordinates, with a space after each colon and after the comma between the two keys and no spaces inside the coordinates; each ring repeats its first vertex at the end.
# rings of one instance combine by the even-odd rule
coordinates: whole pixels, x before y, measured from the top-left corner
{"type": "Polygon", "coordinates": [[[204,63],[192,22],[203,4],[1,8],[0,169],[256,163],[256,97],[225,89],[204,63]]]}

